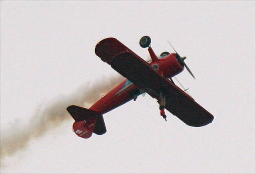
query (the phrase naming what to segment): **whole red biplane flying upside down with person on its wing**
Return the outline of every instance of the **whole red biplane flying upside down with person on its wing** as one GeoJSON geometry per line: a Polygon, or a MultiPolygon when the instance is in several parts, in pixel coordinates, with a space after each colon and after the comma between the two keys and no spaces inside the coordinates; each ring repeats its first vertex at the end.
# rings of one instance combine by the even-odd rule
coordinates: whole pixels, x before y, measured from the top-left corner
{"type": "Polygon", "coordinates": [[[149,36],[140,39],[140,46],[148,47],[151,62],[148,63],[115,38],[106,38],[95,47],[95,53],[103,62],[127,79],[89,109],[79,106],[69,106],[67,111],[74,118],[73,129],[81,138],[90,138],[92,133],[106,133],[103,114],[115,109],[130,100],[136,100],[138,95],[148,93],[158,100],[160,115],[165,118],[165,109],[180,118],[189,126],[205,126],[212,122],[213,116],[185,91],[177,87],[171,79],[184,68],[185,58],[175,53],[163,52],[158,58],[151,45],[149,36]]]}

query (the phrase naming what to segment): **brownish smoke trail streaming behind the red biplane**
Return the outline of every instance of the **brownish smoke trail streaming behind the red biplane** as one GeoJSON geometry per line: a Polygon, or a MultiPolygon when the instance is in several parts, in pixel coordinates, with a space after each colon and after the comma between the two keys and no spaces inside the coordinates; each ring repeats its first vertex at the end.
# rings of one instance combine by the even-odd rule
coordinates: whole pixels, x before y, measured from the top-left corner
{"type": "MultiPolygon", "coordinates": [[[[15,130],[1,132],[0,157],[2,160],[6,155],[13,155],[18,150],[24,150],[30,140],[38,138],[52,126],[56,127],[67,119],[72,119],[66,111],[66,107],[72,104],[89,108],[94,102],[101,98],[113,87],[116,87],[124,78],[119,75],[111,78],[97,80],[96,83],[86,83],[79,87],[73,94],[62,96],[50,102],[44,108],[36,109],[34,116],[27,126],[17,126],[15,130]],[[107,79],[107,80],[106,80],[107,79]]],[[[11,127],[11,126],[10,126],[11,127]]]]}

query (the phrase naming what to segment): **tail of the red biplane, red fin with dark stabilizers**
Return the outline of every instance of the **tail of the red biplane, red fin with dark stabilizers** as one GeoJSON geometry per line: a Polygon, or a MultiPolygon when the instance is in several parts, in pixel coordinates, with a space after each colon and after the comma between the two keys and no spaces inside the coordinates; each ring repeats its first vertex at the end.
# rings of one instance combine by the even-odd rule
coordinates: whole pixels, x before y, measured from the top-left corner
{"type": "Polygon", "coordinates": [[[107,130],[103,116],[97,111],[75,105],[67,107],[67,111],[75,120],[73,128],[76,135],[82,138],[89,138],[92,132],[97,135],[106,133],[107,130]]]}

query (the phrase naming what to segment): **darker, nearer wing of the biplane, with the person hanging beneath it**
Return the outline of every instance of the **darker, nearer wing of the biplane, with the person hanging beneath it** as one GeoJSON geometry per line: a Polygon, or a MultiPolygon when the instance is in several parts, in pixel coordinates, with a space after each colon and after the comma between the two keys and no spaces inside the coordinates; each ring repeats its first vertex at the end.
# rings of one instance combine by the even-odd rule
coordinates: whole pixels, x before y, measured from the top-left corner
{"type": "Polygon", "coordinates": [[[135,85],[163,92],[166,97],[166,109],[189,126],[204,126],[212,122],[213,116],[170,80],[162,77],[139,56],[120,53],[111,60],[111,67],[135,85]]]}

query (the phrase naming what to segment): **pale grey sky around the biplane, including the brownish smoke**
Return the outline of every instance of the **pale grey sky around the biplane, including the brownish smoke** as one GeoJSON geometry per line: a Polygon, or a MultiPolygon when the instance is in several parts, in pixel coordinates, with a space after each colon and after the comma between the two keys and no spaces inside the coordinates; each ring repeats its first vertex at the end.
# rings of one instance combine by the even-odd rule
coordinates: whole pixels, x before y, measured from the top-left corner
{"type": "Polygon", "coordinates": [[[14,150],[1,173],[256,172],[255,1],[0,3],[1,151],[14,150]],[[173,52],[169,40],[187,56],[196,80],[177,78],[214,121],[165,122],[146,95],[105,114],[106,134],[77,137],[66,105],[120,80],[95,45],[115,37],[147,59],[144,35],[157,54],[173,52]]]}

